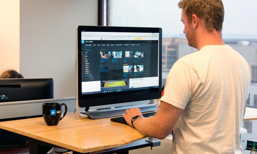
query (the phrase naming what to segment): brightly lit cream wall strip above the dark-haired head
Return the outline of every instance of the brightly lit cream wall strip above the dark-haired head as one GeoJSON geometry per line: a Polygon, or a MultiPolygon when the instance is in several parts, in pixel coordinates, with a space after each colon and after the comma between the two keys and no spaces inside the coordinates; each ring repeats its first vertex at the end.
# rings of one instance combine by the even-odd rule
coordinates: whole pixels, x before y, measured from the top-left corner
{"type": "Polygon", "coordinates": [[[0,0],[0,75],[20,71],[20,1],[0,0]]]}

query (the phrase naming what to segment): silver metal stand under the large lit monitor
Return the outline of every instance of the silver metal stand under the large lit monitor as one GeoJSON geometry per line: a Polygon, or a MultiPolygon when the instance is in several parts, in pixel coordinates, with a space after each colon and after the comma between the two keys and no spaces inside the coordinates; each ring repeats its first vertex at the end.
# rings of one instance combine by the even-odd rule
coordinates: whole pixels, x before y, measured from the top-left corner
{"type": "Polygon", "coordinates": [[[112,109],[80,112],[78,103],[76,102],[76,111],[79,114],[79,116],[90,117],[92,119],[120,116],[123,113],[126,113],[125,112],[126,109],[130,109],[130,108],[139,108],[141,112],[150,112],[150,111],[157,110],[157,106],[155,104],[144,104],[144,105],[133,105],[133,106],[126,106],[126,107],[112,108],[112,109]]]}

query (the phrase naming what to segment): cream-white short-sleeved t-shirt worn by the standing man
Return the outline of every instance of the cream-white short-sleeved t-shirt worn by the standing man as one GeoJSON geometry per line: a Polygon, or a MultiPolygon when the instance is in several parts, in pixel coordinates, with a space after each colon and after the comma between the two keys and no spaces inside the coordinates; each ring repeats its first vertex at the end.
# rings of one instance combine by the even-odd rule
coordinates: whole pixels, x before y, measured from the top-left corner
{"type": "Polygon", "coordinates": [[[251,70],[228,45],[208,45],[180,58],[161,101],[184,109],[174,128],[173,153],[242,153],[240,128],[251,70]]]}

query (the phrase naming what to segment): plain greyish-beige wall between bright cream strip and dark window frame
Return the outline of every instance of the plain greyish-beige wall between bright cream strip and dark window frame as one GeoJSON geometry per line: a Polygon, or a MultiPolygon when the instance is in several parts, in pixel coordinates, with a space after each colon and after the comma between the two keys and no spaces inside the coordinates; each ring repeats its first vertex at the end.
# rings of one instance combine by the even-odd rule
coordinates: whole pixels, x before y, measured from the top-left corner
{"type": "Polygon", "coordinates": [[[53,78],[54,98],[75,97],[76,26],[97,25],[96,0],[21,0],[20,73],[53,78]]]}

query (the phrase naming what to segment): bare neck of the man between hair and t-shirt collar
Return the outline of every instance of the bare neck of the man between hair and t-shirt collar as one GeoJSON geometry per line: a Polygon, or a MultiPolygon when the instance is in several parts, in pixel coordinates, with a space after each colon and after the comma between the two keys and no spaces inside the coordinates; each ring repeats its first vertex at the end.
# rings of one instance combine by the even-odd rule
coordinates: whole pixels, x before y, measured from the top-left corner
{"type": "Polygon", "coordinates": [[[221,32],[216,30],[210,32],[199,32],[196,36],[197,50],[199,51],[202,47],[206,45],[225,45],[222,40],[221,32]]]}

